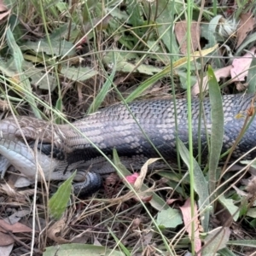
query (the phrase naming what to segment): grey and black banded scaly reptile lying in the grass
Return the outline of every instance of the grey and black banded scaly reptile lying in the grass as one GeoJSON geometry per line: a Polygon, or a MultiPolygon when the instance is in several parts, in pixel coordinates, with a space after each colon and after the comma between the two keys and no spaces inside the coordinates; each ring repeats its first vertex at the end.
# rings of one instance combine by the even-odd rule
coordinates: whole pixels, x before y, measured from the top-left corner
{"type": "MultiPolygon", "coordinates": [[[[223,152],[231,148],[241,132],[247,111],[254,104],[254,94],[223,96],[223,152]]],[[[211,137],[212,121],[209,98],[192,100],[194,154],[198,154],[198,134],[201,135],[202,155],[207,156],[207,136],[211,137]],[[199,123],[201,122],[201,123],[199,123]],[[201,129],[199,131],[199,126],[201,129]]],[[[87,115],[72,125],[55,125],[42,119],[20,116],[0,121],[0,172],[2,177],[9,165],[15,166],[31,183],[66,180],[74,170],[74,193],[89,195],[102,186],[102,175],[115,172],[102,155],[110,159],[113,148],[123,164],[139,170],[149,158],[161,157],[167,162],[177,160],[176,138],[188,147],[188,108],[186,99],[171,99],[119,103],[87,115]],[[176,113],[176,114],[175,114],[176,113]],[[177,117],[177,127],[175,118],[177,117]],[[177,129],[176,129],[177,128],[177,129]],[[157,151],[155,148],[157,148],[157,151]],[[100,151],[99,151],[100,149],[100,151]]],[[[256,146],[256,120],[236,146],[233,157],[240,157],[256,146]]],[[[256,155],[253,150],[248,158],[256,155]]]]}

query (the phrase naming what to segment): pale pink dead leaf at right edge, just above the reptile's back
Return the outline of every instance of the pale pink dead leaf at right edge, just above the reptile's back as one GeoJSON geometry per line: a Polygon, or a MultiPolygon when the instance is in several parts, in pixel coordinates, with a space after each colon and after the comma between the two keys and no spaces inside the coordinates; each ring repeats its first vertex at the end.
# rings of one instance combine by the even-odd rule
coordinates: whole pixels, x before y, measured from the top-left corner
{"type": "Polygon", "coordinates": [[[232,82],[245,81],[253,57],[255,57],[255,50],[256,48],[253,47],[249,49],[245,55],[233,60],[233,67],[230,70],[232,82]]]}

